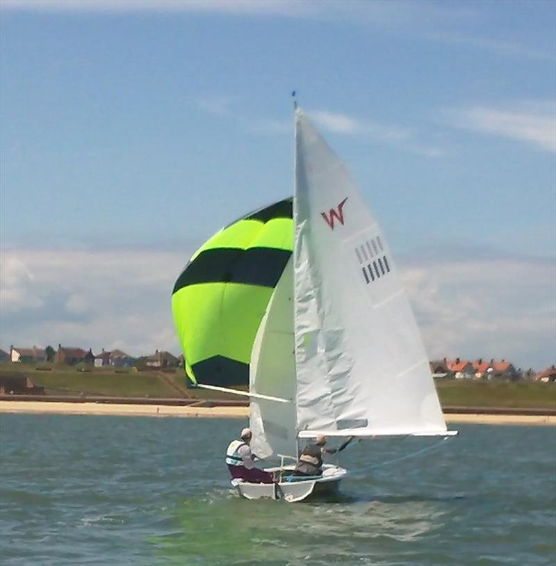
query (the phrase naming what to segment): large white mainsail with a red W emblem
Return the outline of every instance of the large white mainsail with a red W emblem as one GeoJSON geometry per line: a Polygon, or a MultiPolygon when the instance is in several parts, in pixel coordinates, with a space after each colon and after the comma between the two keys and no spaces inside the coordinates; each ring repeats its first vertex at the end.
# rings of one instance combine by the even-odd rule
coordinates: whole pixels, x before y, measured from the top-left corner
{"type": "Polygon", "coordinates": [[[303,431],[446,432],[386,240],[345,165],[296,112],[295,358],[303,431]]]}

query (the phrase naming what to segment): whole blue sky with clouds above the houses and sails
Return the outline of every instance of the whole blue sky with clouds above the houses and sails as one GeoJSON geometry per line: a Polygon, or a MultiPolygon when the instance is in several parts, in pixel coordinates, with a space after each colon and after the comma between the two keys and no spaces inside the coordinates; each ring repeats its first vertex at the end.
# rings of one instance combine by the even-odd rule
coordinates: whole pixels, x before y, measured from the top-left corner
{"type": "Polygon", "coordinates": [[[291,91],[434,357],[556,362],[556,2],[0,1],[0,347],[180,353],[172,286],[293,193],[291,91]]]}

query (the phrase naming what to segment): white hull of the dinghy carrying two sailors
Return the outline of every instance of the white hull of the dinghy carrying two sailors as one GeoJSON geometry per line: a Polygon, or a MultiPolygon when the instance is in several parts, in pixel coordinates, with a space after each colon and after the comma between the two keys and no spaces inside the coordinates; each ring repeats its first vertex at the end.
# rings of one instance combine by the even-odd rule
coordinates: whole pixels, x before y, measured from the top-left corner
{"type": "MultiPolygon", "coordinates": [[[[279,483],[249,483],[243,480],[231,480],[240,496],[245,499],[284,499],[288,503],[303,501],[311,495],[326,495],[338,491],[340,481],[347,471],[339,466],[324,464],[322,476],[316,479],[295,479],[288,481],[293,466],[267,468],[266,471],[281,472],[284,478],[279,483]]],[[[297,476],[302,478],[302,476],[297,476]]]]}

